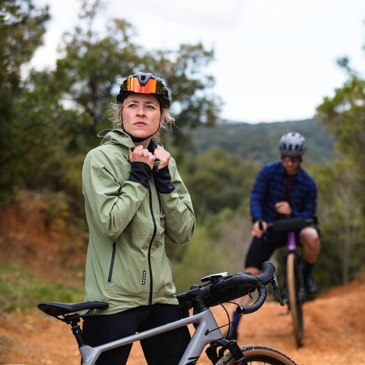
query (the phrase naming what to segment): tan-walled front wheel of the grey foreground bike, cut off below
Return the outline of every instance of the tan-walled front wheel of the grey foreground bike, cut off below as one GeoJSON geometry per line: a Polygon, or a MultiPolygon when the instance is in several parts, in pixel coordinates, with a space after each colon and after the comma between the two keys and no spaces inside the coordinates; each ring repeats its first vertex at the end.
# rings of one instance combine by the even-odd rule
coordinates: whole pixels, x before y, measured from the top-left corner
{"type": "MultiPolygon", "coordinates": [[[[261,345],[249,345],[241,348],[248,365],[267,364],[267,365],[296,365],[296,363],[282,352],[261,345]]],[[[224,355],[216,365],[235,364],[235,359],[231,352],[224,355]]]]}

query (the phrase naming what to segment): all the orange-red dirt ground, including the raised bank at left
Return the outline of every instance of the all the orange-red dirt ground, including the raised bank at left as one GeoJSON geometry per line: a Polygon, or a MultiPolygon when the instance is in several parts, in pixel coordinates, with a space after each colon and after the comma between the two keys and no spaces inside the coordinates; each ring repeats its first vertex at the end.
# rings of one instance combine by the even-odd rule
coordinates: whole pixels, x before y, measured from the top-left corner
{"type": "MultiPolygon", "coordinates": [[[[77,270],[84,260],[84,251],[79,248],[72,251],[72,265],[65,261],[61,242],[70,236],[65,225],[45,229],[42,203],[33,194],[22,192],[19,202],[12,209],[1,209],[0,258],[24,265],[38,277],[81,288],[81,274],[77,275],[77,270]],[[32,242],[31,248],[23,247],[24,237],[32,242]],[[9,238],[11,250],[4,243],[9,242],[9,238]],[[73,270],[72,275],[68,274],[70,270],[73,270]]],[[[304,347],[299,349],[285,307],[277,302],[266,302],[260,311],[242,318],[238,343],[271,346],[299,365],[365,364],[364,302],[365,275],[362,275],[306,303],[306,339],[304,347]]],[[[213,313],[219,325],[226,323],[226,313],[221,307],[214,307],[213,313]]],[[[79,365],[79,361],[77,345],[68,326],[36,309],[27,313],[0,311],[0,364],[79,365]]],[[[128,363],[145,364],[139,344],[134,345],[128,363]]],[[[198,364],[210,364],[205,354],[198,364]]]]}

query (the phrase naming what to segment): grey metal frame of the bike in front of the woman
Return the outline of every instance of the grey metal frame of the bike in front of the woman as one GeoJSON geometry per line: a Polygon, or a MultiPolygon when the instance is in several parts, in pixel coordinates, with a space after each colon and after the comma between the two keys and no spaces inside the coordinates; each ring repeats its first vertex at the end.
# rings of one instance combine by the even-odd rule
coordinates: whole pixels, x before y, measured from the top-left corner
{"type": "Polygon", "coordinates": [[[102,345],[91,347],[89,345],[81,345],[79,352],[82,357],[81,365],[93,365],[104,351],[118,348],[129,343],[134,343],[149,337],[155,336],[156,334],[162,334],[169,332],[172,329],[184,327],[186,325],[196,324],[195,332],[192,339],[189,341],[189,345],[185,349],[183,357],[181,357],[179,365],[196,364],[205,345],[212,341],[217,341],[222,338],[222,331],[217,325],[212,311],[207,309],[201,313],[193,314],[187,318],[182,318],[166,325],[148,329],[147,331],[140,332],[138,334],[132,334],[116,341],[104,343],[102,345]]]}

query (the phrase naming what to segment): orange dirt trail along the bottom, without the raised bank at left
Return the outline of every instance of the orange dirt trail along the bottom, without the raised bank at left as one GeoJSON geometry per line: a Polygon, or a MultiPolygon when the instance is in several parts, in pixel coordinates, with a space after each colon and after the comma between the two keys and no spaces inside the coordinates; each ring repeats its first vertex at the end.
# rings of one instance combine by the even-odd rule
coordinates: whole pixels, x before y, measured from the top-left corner
{"type": "MultiPolygon", "coordinates": [[[[242,318],[238,343],[263,344],[292,357],[297,364],[365,364],[365,280],[331,290],[304,306],[306,343],[297,349],[290,316],[274,302],[242,318]]],[[[218,323],[226,322],[220,307],[218,323]]],[[[12,313],[0,318],[0,364],[78,365],[77,346],[68,326],[42,313],[12,313]]],[[[129,364],[145,364],[139,344],[129,364]]],[[[198,364],[210,364],[205,354],[198,364]]]]}

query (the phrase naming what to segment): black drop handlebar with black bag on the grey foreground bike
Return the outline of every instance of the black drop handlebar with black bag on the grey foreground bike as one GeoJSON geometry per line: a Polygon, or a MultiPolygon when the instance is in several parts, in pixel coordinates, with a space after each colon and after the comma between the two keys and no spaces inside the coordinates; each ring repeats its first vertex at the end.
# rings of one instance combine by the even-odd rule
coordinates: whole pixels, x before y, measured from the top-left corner
{"type": "Polygon", "coordinates": [[[249,306],[238,306],[237,313],[253,313],[265,302],[267,291],[266,285],[276,279],[275,267],[270,261],[263,264],[263,272],[257,276],[249,272],[239,272],[228,277],[212,279],[203,286],[192,286],[186,293],[180,293],[177,298],[183,310],[194,308],[203,311],[210,306],[231,302],[258,290],[258,297],[249,306]]]}

